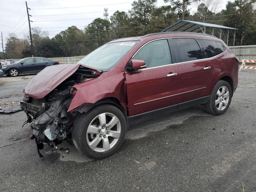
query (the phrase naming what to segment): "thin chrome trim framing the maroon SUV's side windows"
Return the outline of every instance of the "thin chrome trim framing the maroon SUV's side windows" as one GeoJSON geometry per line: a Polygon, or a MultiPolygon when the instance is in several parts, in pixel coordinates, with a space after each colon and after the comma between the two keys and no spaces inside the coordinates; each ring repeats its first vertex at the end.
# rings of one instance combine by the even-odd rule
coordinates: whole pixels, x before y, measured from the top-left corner
{"type": "MultiPolygon", "coordinates": [[[[149,42],[146,42],[144,45],[142,45],[135,53],[134,55],[132,56],[132,59],[134,58],[134,56],[148,43],[150,42],[153,42],[153,41],[157,41],[157,40],[163,40],[163,39],[177,39],[177,38],[192,38],[192,39],[206,39],[206,40],[211,40],[211,41],[217,41],[217,42],[220,42],[218,40],[212,40],[212,39],[207,39],[207,38],[197,38],[197,37],[166,37],[166,38],[159,38],[159,39],[154,39],[154,40],[151,40],[149,42]]],[[[223,43],[220,42],[222,45],[223,43]]],[[[224,45],[223,45],[224,46],[224,45]]],[[[225,51],[227,51],[226,49],[226,46],[225,47],[225,51]]],[[[222,52],[222,53],[224,53],[222,52]]],[[[220,54],[222,54],[220,53],[220,54]]],[[[172,63],[172,64],[168,64],[168,65],[161,65],[161,66],[156,66],[156,67],[150,67],[150,68],[144,68],[144,69],[138,69],[138,71],[144,71],[144,70],[148,70],[148,69],[154,69],[154,68],[160,68],[160,67],[166,67],[166,66],[172,66],[172,65],[177,65],[177,64],[183,64],[183,63],[188,63],[188,62],[197,62],[197,61],[204,61],[204,60],[208,60],[208,59],[212,59],[212,58],[215,58],[217,56],[219,56],[220,54],[216,55],[216,56],[213,56],[213,57],[209,57],[209,58],[203,58],[203,59],[197,59],[197,60],[192,60],[192,61],[184,61],[184,62],[179,62],[179,63],[172,63]]]]}

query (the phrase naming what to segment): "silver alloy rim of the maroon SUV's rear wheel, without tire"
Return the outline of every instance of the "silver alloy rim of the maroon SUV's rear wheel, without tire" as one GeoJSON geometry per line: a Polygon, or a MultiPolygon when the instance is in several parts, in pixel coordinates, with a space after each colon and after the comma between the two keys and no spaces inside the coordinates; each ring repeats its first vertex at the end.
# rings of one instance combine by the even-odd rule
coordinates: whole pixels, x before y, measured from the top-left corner
{"type": "Polygon", "coordinates": [[[229,101],[229,91],[226,86],[221,86],[215,97],[215,106],[218,110],[222,111],[226,108],[229,101]]]}

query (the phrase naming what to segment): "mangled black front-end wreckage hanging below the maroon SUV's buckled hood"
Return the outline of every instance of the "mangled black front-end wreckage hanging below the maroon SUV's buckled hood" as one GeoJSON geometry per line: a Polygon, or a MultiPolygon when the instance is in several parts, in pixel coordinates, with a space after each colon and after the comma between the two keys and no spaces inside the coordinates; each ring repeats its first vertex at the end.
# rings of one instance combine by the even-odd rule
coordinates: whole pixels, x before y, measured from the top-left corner
{"type": "Polygon", "coordinates": [[[20,102],[28,116],[26,123],[30,123],[32,139],[36,140],[40,157],[43,143],[56,147],[71,133],[75,118],[74,114],[67,113],[71,100],[70,91],[65,90],[53,92],[47,99],[24,98],[20,102]]]}

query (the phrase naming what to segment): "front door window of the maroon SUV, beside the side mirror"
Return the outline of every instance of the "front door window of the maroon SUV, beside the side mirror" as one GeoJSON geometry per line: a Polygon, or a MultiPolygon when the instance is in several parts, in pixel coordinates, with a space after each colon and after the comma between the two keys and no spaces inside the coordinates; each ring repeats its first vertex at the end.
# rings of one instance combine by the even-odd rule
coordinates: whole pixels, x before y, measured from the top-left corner
{"type": "Polygon", "coordinates": [[[146,68],[172,63],[170,48],[166,39],[146,44],[136,53],[133,59],[144,60],[146,68]]]}

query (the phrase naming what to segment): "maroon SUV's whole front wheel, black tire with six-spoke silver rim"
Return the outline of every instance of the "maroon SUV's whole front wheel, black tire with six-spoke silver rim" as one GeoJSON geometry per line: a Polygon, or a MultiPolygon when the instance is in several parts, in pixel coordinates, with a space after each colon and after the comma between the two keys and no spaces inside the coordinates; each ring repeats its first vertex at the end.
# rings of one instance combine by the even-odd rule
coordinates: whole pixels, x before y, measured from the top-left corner
{"type": "Polygon", "coordinates": [[[103,104],[76,118],[72,138],[84,155],[102,159],[120,148],[125,134],[124,114],[113,105],[103,104]]]}

